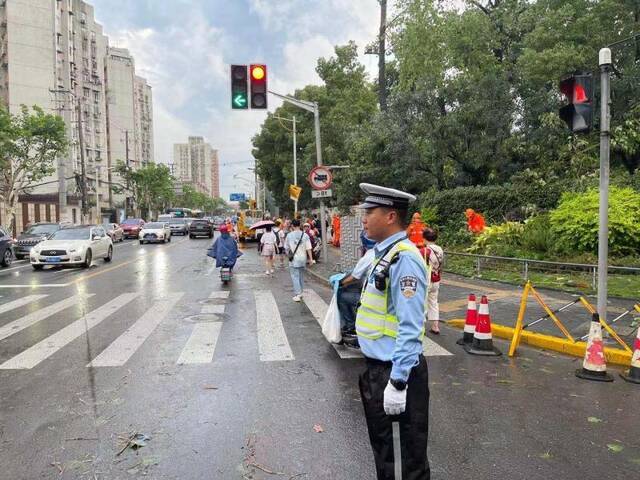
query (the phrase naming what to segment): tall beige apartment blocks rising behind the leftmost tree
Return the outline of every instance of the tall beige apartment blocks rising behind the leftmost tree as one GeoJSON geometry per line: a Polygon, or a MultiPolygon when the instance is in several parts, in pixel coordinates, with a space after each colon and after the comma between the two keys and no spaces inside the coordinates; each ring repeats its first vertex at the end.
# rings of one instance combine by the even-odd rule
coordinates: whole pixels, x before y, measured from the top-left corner
{"type": "Polygon", "coordinates": [[[151,89],[136,77],[128,52],[131,74],[125,85],[113,68],[109,50],[108,38],[87,2],[0,0],[0,99],[11,113],[17,113],[21,105],[38,105],[60,115],[70,144],[68,153],[57,159],[56,171],[21,197],[28,207],[21,210],[19,229],[45,210],[55,212],[47,216],[72,222],[98,221],[97,205],[107,211],[120,206],[110,188],[113,159],[126,150],[117,125],[124,125],[125,131],[130,127],[136,164],[153,161],[151,89]],[[113,84],[108,84],[107,76],[113,84]],[[117,103],[110,103],[108,97],[117,103]],[[125,113],[127,105],[130,119],[125,113]],[[116,120],[111,121],[108,113],[116,120]],[[112,148],[119,150],[112,152],[112,148]],[[88,218],[81,219],[75,176],[83,161],[93,208],[88,218]]]}

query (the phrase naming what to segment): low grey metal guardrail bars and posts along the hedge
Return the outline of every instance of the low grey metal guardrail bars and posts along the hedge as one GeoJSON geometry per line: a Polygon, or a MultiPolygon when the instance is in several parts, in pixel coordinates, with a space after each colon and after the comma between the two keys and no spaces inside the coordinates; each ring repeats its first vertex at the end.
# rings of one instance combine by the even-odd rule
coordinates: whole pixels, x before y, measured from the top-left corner
{"type": "MultiPolygon", "coordinates": [[[[491,265],[495,265],[497,263],[500,262],[504,262],[504,263],[515,263],[515,264],[521,264],[521,271],[522,271],[522,279],[524,281],[529,280],[529,270],[531,269],[530,267],[538,267],[537,269],[539,270],[556,270],[556,271],[581,271],[581,272],[588,272],[591,274],[591,286],[595,289],[598,283],[598,266],[597,265],[592,265],[592,264],[588,264],[588,263],[563,263],[563,262],[551,262],[551,261],[546,261],[546,260],[534,260],[534,259],[530,259],[530,258],[514,258],[514,257],[499,257],[499,256],[493,256],[493,255],[479,255],[476,253],[462,253],[462,252],[449,252],[449,251],[445,251],[445,265],[444,268],[446,270],[447,268],[447,261],[446,258],[447,257],[469,257],[469,258],[475,258],[475,267],[476,267],[476,274],[477,275],[481,275],[482,274],[482,267],[484,264],[484,267],[487,268],[487,264],[491,265]]],[[[620,273],[627,273],[627,274],[640,274],[640,268],[637,267],[622,267],[622,266],[616,266],[616,265],[609,265],[608,267],[608,271],[612,272],[612,271],[617,271],[620,273]]]]}

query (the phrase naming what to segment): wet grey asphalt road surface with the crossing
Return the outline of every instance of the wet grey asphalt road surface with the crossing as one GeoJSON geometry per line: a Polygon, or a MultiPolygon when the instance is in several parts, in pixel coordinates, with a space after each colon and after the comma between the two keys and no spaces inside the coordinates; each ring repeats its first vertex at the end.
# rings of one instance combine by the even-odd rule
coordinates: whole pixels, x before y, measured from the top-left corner
{"type": "MultiPolygon", "coordinates": [[[[0,478],[375,478],[363,361],[327,343],[317,301],[293,302],[286,270],[264,275],[249,245],[224,287],[208,243],[125,242],[88,271],[0,270],[0,478]],[[210,361],[178,363],[202,361],[198,349],[210,361]],[[118,455],[135,432],[150,440],[118,455]]],[[[458,336],[445,327],[426,346],[438,353],[427,358],[432,478],[637,476],[640,388],[578,380],[579,360],[524,347],[470,356],[458,336]]]]}

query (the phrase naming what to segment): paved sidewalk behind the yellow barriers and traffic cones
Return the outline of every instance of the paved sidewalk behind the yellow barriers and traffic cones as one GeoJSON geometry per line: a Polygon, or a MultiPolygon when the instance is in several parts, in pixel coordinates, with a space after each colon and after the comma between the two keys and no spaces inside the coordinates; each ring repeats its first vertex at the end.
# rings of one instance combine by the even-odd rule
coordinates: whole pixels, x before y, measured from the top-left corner
{"type": "MultiPolygon", "coordinates": [[[[328,263],[319,262],[307,269],[313,277],[325,283],[328,283],[329,277],[337,272],[336,265],[340,263],[340,249],[329,245],[328,258],[328,263]]],[[[536,288],[536,290],[551,310],[563,307],[577,298],[575,294],[559,292],[557,290],[545,290],[543,288],[536,288]]],[[[440,319],[444,321],[464,319],[470,293],[476,295],[478,303],[482,295],[487,295],[490,302],[491,321],[493,323],[508,327],[515,326],[522,297],[522,286],[472,279],[452,273],[444,274],[440,287],[440,319]]],[[[593,296],[585,298],[595,306],[596,299],[593,296]]],[[[609,324],[611,324],[613,319],[632,307],[633,302],[629,300],[610,299],[607,309],[609,324]]],[[[543,308],[530,296],[525,314],[525,324],[537,320],[544,315],[545,311],[543,308]]],[[[591,314],[581,303],[576,303],[568,307],[563,312],[558,313],[557,316],[574,339],[578,340],[589,332],[591,314]]],[[[614,323],[612,328],[623,338],[627,345],[632,346],[639,325],[640,314],[633,312],[614,323]]],[[[562,336],[562,333],[551,319],[546,319],[536,324],[530,331],[562,336]]],[[[456,331],[455,335],[458,334],[456,331]]],[[[604,339],[607,346],[613,347],[618,345],[615,340],[608,338],[606,333],[604,339]]]]}

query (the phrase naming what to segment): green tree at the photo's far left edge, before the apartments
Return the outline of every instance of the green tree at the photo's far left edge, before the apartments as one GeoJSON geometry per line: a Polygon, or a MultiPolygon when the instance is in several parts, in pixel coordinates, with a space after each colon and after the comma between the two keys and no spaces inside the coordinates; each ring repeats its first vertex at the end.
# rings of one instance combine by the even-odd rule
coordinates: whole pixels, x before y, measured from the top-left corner
{"type": "Polygon", "coordinates": [[[67,150],[64,120],[38,106],[32,111],[22,105],[12,115],[0,106],[0,200],[13,233],[19,196],[53,174],[55,159],[67,150]]]}

